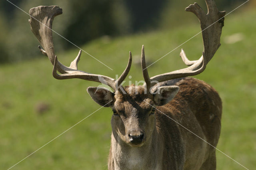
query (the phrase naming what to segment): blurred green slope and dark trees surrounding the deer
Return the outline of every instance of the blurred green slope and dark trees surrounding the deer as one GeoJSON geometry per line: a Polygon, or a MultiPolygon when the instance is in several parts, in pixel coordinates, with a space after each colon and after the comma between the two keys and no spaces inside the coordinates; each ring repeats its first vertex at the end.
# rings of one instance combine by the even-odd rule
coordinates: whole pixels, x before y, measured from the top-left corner
{"type": "MultiPolygon", "coordinates": [[[[215,0],[220,11],[231,12],[246,0],[215,0]]],[[[131,80],[142,79],[140,51],[152,63],[200,32],[194,14],[185,12],[204,0],[10,0],[28,12],[40,5],[58,5],[63,14],[53,30],[110,68],[82,53],[79,69],[115,78],[132,51],[131,80]]],[[[56,80],[52,65],[40,54],[30,30],[29,16],[6,0],[0,1],[0,168],[8,169],[100,106],[86,92],[98,83],[56,80]]],[[[256,160],[256,2],[250,0],[224,21],[221,47],[195,76],[212,85],[223,102],[222,132],[218,147],[249,169],[256,160]]],[[[58,59],[69,65],[79,49],[53,34],[58,59]]],[[[149,67],[150,76],[186,67],[202,55],[201,34],[149,67]]],[[[128,85],[128,83],[126,83],[128,85]]],[[[13,169],[107,169],[110,146],[109,108],[88,117],[13,169]]],[[[217,169],[242,166],[217,151],[217,169]]]]}

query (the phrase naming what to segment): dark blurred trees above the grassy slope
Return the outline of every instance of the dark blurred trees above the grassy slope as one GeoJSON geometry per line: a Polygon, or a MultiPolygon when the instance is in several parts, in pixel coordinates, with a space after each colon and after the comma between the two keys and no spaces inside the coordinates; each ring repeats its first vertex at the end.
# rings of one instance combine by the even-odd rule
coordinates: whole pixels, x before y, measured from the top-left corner
{"type": "MultiPolygon", "coordinates": [[[[80,46],[102,36],[118,37],[156,29],[174,28],[188,24],[182,0],[11,0],[28,12],[40,5],[58,5],[63,14],[54,20],[54,30],[80,46]]],[[[244,0],[216,0],[219,10],[233,9],[244,0]]],[[[205,7],[204,1],[198,3],[205,7]]],[[[204,8],[205,9],[205,8],[204,8]]],[[[28,29],[28,16],[6,0],[0,2],[0,56],[1,63],[13,63],[35,58],[38,50],[32,48],[37,40],[28,29]],[[26,40],[26,43],[24,43],[26,40]]],[[[195,19],[193,18],[193,21],[195,19]]],[[[55,48],[63,51],[74,45],[63,38],[56,40],[55,48]]]]}

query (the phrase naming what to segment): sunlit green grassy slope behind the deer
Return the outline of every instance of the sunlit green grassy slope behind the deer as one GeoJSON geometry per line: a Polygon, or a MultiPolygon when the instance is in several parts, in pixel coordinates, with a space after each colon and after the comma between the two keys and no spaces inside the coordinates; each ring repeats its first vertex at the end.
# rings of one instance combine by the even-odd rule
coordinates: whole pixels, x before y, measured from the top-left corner
{"type": "MultiPolygon", "coordinates": [[[[195,76],[212,85],[222,98],[222,131],[217,147],[249,169],[256,166],[255,18],[255,9],[227,16],[221,47],[206,70],[195,76]]],[[[129,75],[135,83],[143,80],[138,64],[142,44],[146,59],[156,61],[199,31],[199,24],[195,23],[172,30],[100,38],[82,49],[113,71],[85,53],[78,66],[90,73],[115,77],[126,67],[128,52],[132,51],[133,65],[129,75]]],[[[198,35],[182,45],[189,59],[202,55],[201,39],[198,35]]],[[[149,67],[150,76],[185,67],[178,57],[180,49],[149,67]]],[[[78,49],[65,53],[57,51],[58,59],[66,65],[77,53],[78,49]]],[[[79,79],[54,79],[52,65],[44,56],[14,65],[0,65],[0,169],[10,168],[99,109],[86,92],[87,87],[98,85],[79,79]]],[[[100,109],[12,169],[107,169],[111,116],[109,108],[100,109]]],[[[217,169],[240,170],[243,167],[217,151],[217,169]]]]}

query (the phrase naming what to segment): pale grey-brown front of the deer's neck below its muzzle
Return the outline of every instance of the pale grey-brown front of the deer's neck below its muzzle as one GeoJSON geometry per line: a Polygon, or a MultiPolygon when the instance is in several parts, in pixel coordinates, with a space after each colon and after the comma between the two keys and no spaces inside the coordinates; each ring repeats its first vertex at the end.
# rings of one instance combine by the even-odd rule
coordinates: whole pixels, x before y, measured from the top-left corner
{"type": "Polygon", "coordinates": [[[110,155],[114,169],[136,170],[138,169],[160,169],[162,162],[162,140],[156,127],[152,135],[141,147],[131,147],[115,137],[112,131],[110,155]]]}

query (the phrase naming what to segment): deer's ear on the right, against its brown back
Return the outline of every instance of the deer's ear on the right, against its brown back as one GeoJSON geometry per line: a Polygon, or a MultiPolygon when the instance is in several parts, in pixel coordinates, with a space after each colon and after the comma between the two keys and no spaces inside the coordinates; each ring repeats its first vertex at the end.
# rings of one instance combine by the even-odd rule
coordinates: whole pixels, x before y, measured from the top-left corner
{"type": "Polygon", "coordinates": [[[178,86],[162,86],[156,89],[154,94],[154,103],[157,106],[162,106],[169,103],[178,93],[178,86]]]}

